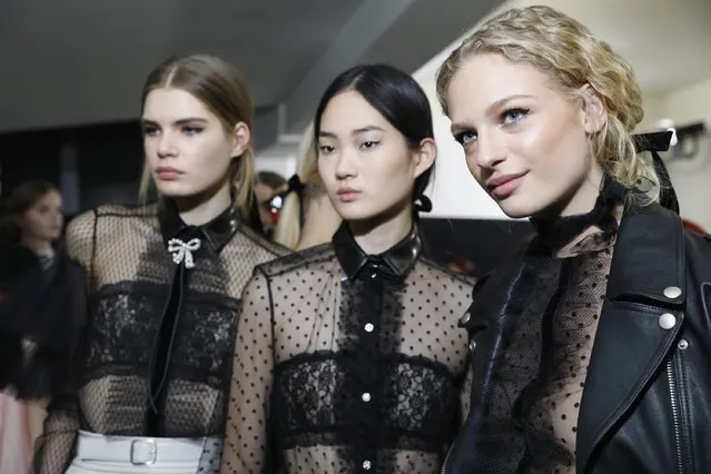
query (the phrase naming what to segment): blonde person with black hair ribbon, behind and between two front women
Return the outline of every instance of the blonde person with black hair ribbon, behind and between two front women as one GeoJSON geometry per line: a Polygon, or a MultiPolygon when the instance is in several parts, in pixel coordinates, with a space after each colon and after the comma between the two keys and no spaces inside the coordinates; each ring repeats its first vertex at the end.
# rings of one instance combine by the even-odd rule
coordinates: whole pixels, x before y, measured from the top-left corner
{"type": "Polygon", "coordinates": [[[318,175],[313,124],[299,144],[296,175],[289,179],[288,189],[271,199],[270,206],[279,213],[273,239],[295,250],[329,241],[340,225],[340,216],[318,175]]]}

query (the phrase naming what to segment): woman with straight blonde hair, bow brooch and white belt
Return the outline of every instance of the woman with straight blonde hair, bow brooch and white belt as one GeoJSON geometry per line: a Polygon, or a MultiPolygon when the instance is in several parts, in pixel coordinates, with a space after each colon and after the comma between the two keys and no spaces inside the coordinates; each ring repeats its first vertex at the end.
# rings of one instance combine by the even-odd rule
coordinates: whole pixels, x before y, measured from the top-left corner
{"type": "Polygon", "coordinates": [[[69,225],[88,312],[36,472],[219,468],[240,294],[255,265],[288,251],[250,227],[251,126],[247,83],[219,58],[171,58],[148,76],[141,195],[159,199],[69,225]]]}

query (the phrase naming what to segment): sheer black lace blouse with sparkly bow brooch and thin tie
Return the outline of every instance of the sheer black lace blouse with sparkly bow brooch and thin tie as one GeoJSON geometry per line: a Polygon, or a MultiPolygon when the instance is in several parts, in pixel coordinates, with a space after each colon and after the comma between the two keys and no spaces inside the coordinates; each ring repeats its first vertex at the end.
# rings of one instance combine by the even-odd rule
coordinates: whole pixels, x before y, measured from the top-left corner
{"type": "MultiPolygon", "coordinates": [[[[77,429],[221,437],[241,290],[255,265],[288,250],[231,207],[194,227],[169,201],[86,213],[70,223],[67,247],[88,275],[88,322],[36,470],[63,473],[77,429]]],[[[218,470],[218,454],[204,458],[200,472],[218,470]]]]}

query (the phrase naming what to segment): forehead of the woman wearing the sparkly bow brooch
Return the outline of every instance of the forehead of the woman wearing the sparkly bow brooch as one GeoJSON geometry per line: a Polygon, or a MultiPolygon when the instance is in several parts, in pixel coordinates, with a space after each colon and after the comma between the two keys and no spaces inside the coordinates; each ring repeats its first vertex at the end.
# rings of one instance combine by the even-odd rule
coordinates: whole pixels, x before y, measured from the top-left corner
{"type": "Polygon", "coordinates": [[[210,110],[190,92],[161,87],[151,90],[144,103],[144,119],[172,121],[186,117],[209,119],[210,110]]]}

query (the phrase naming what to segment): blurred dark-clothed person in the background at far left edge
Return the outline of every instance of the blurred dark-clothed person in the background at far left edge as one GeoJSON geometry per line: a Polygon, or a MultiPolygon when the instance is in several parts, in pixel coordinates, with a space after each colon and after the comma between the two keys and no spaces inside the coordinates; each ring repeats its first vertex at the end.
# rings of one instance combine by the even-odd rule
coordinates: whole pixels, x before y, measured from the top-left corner
{"type": "Polygon", "coordinates": [[[0,218],[0,472],[27,473],[43,405],[68,377],[83,285],[61,253],[62,199],[50,182],[20,184],[0,218]]]}

